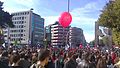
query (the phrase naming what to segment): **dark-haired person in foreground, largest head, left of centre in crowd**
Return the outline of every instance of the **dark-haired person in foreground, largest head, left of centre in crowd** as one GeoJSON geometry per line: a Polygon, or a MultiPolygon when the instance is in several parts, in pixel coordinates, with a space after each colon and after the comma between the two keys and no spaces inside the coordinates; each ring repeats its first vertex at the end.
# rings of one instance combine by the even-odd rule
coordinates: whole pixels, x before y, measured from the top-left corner
{"type": "Polygon", "coordinates": [[[50,57],[50,51],[48,49],[43,49],[38,53],[38,62],[33,64],[30,68],[45,68],[44,66],[48,64],[50,57]]]}

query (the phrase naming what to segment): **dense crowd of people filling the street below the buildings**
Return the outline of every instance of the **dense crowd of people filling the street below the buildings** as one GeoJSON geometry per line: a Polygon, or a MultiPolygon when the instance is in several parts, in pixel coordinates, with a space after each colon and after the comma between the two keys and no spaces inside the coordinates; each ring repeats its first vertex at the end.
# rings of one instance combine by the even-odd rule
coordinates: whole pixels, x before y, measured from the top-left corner
{"type": "Polygon", "coordinates": [[[0,68],[120,68],[120,54],[79,47],[0,47],[0,68]]]}

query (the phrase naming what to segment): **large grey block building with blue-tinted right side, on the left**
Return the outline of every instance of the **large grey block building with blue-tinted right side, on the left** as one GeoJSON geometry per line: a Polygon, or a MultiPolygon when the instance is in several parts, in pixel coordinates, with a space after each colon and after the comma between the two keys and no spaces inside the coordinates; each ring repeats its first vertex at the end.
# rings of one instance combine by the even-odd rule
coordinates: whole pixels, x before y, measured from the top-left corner
{"type": "Polygon", "coordinates": [[[12,13],[14,28],[4,29],[4,39],[8,44],[42,45],[44,39],[44,18],[32,10],[12,13]]]}

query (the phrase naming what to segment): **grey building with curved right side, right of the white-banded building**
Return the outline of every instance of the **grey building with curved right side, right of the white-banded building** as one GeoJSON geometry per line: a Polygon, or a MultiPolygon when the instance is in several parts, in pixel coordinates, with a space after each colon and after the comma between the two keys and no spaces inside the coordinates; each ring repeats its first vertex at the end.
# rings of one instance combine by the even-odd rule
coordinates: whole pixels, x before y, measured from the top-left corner
{"type": "Polygon", "coordinates": [[[86,40],[83,34],[83,30],[77,27],[70,27],[68,43],[71,47],[76,47],[80,44],[85,46],[86,40]]]}

